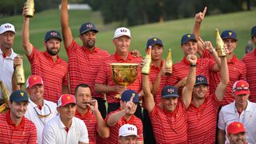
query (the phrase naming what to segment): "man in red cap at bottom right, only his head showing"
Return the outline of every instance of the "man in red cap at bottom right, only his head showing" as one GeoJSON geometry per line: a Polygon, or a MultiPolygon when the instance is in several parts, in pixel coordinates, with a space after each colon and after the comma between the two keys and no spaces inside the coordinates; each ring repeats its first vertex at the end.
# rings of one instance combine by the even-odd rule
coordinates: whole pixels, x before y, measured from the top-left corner
{"type": "Polygon", "coordinates": [[[246,130],[241,122],[232,122],[226,128],[227,138],[230,144],[247,144],[246,130]]]}

